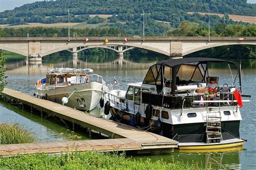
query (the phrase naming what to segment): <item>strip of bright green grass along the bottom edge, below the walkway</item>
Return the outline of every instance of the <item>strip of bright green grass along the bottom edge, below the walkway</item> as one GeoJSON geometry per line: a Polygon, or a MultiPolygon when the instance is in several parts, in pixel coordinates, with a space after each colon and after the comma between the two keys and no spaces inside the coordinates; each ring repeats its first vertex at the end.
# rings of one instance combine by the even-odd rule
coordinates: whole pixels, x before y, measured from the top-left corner
{"type": "MultiPolygon", "coordinates": [[[[200,169],[197,164],[181,161],[134,160],[125,154],[75,152],[61,155],[18,155],[1,158],[0,169],[200,169]]],[[[204,168],[205,169],[205,168],[204,168]]]]}

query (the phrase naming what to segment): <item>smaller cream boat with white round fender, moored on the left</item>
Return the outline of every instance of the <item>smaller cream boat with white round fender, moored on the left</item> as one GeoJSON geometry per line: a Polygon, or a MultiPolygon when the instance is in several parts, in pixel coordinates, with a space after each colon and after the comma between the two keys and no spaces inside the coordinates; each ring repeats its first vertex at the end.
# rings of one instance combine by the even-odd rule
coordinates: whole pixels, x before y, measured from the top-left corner
{"type": "Polygon", "coordinates": [[[105,81],[91,69],[52,69],[36,83],[35,96],[91,111],[102,97],[105,81]]]}

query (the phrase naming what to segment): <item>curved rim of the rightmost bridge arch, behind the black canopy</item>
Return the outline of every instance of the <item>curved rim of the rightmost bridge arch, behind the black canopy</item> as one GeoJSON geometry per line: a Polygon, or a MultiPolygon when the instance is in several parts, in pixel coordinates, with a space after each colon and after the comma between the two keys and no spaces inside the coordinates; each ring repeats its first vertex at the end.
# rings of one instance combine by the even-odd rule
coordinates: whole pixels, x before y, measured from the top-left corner
{"type": "Polygon", "coordinates": [[[241,44],[238,44],[238,43],[215,43],[215,44],[210,44],[210,45],[197,47],[197,48],[192,49],[190,51],[184,52],[183,56],[189,55],[190,53],[193,53],[193,52],[210,49],[212,47],[226,46],[226,45],[256,45],[256,43],[241,43],[241,44]]]}

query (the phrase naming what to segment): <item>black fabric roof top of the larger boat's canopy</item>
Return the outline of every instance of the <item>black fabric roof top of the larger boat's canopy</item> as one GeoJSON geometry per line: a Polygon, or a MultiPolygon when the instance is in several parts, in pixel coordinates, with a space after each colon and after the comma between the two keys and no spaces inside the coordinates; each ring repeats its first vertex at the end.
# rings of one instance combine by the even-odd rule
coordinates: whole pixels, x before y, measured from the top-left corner
{"type": "Polygon", "coordinates": [[[223,59],[217,59],[217,58],[206,58],[206,57],[193,57],[193,58],[179,58],[179,59],[166,59],[161,60],[160,62],[156,63],[155,65],[165,65],[169,67],[174,67],[177,65],[182,64],[189,64],[189,63],[207,63],[207,62],[215,62],[215,63],[221,63],[226,62],[229,64],[237,65],[238,63],[230,62],[223,59]]]}

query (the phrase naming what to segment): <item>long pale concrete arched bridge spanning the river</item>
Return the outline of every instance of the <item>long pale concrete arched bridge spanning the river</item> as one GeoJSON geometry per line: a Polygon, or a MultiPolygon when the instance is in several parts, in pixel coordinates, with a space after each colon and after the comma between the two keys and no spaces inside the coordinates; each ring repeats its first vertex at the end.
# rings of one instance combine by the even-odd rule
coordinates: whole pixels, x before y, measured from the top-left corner
{"type": "Polygon", "coordinates": [[[110,49],[123,55],[133,49],[145,49],[171,58],[223,45],[256,45],[256,37],[0,37],[0,49],[42,60],[55,52],[68,50],[73,58],[77,53],[95,47],[110,49]],[[87,41],[86,41],[87,38],[87,41]],[[108,39],[109,42],[105,42],[108,39]]]}

